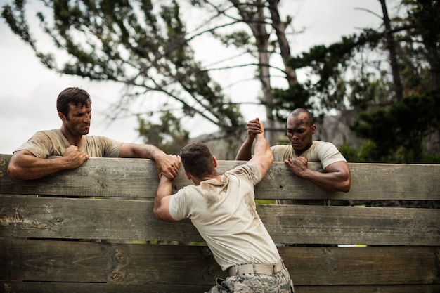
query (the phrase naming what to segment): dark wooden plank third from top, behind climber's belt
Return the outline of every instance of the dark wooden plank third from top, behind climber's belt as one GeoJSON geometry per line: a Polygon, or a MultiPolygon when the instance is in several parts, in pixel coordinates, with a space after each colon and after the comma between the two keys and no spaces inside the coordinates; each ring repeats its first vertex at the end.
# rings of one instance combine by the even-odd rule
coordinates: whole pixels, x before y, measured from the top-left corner
{"type": "MultiPolygon", "coordinates": [[[[214,285],[207,247],[1,239],[0,280],[214,285]]],[[[279,247],[294,285],[440,283],[439,247],[279,247]],[[404,268],[404,269],[403,269],[404,268]]]]}

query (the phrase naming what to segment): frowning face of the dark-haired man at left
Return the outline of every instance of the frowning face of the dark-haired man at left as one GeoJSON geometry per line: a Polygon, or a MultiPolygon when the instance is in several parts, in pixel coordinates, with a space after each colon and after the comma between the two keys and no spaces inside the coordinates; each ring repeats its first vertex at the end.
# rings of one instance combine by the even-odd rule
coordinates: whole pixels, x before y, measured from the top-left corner
{"type": "Polygon", "coordinates": [[[63,124],[72,134],[86,135],[90,131],[91,104],[75,107],[69,105],[67,117],[63,115],[63,124]]]}

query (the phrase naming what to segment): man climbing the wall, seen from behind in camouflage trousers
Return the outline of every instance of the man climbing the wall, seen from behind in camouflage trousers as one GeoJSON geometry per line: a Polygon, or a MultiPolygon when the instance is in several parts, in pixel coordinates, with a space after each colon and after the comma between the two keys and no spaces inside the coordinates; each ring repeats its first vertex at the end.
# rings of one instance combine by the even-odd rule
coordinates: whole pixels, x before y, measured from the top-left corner
{"type": "MultiPolygon", "coordinates": [[[[264,129],[264,125],[261,125],[264,129]]],[[[204,143],[192,143],[176,160],[194,185],[172,194],[172,181],[161,176],[153,212],[164,221],[190,219],[212,255],[229,276],[217,278],[209,293],[293,293],[289,271],[261,221],[254,186],[271,167],[273,155],[263,134],[256,134],[255,155],[220,175],[204,143]]]]}

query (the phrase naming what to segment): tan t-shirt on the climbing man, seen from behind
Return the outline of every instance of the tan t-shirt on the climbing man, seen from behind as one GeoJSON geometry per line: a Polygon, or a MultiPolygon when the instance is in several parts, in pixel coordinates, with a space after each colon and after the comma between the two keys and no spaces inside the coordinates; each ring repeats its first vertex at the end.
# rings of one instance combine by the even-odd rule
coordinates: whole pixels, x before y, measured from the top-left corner
{"type": "Polygon", "coordinates": [[[261,171],[245,164],[216,179],[188,185],[169,201],[176,221],[190,219],[226,271],[245,263],[277,263],[278,249],[255,209],[254,185],[261,171]]]}

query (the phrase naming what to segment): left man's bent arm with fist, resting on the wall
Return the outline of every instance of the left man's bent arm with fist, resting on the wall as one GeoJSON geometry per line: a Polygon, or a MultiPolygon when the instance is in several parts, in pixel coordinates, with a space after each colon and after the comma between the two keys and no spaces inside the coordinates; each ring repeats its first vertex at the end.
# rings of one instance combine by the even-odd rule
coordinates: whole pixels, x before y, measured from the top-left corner
{"type": "Polygon", "coordinates": [[[51,159],[41,159],[28,150],[18,150],[14,152],[8,164],[8,176],[24,180],[37,179],[63,169],[75,169],[87,159],[89,155],[79,152],[75,145],[70,145],[63,157],[51,159]]]}

